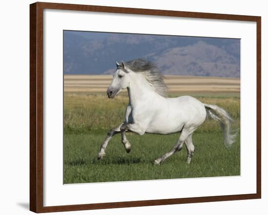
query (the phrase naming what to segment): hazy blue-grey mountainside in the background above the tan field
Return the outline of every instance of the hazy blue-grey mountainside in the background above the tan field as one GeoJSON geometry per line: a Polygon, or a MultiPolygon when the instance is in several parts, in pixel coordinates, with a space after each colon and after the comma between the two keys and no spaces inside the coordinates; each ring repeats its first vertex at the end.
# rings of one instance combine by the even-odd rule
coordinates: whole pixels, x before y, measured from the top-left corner
{"type": "Polygon", "coordinates": [[[164,74],[240,77],[240,40],[64,33],[65,74],[111,74],[115,61],[145,57],[164,74]]]}

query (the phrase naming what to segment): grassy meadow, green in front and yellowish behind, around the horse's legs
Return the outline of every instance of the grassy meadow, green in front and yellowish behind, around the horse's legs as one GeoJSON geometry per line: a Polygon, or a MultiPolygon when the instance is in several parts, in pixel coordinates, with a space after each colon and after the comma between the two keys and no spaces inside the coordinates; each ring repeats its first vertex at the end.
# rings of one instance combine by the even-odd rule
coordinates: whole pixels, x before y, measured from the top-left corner
{"type": "MultiPolygon", "coordinates": [[[[240,127],[240,98],[200,96],[199,100],[225,108],[240,127]]],[[[139,136],[127,133],[132,151],[126,153],[116,135],[106,149],[103,160],[97,161],[100,144],[110,128],[124,119],[126,96],[114,100],[104,95],[65,94],[64,96],[64,183],[179,179],[240,175],[240,139],[230,149],[223,143],[220,126],[207,120],[193,134],[195,154],[186,163],[184,146],[160,166],[153,161],[172,149],[179,134],[139,136]]]]}

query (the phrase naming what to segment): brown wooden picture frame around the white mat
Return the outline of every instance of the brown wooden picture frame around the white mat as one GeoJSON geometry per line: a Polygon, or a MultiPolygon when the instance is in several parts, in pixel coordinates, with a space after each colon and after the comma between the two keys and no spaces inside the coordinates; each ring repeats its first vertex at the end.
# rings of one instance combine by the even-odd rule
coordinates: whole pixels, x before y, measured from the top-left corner
{"type": "Polygon", "coordinates": [[[261,198],[261,17],[36,2],[30,5],[30,210],[36,213],[261,198]],[[255,194],[43,206],[43,9],[253,21],[257,24],[257,192],[255,194]]]}

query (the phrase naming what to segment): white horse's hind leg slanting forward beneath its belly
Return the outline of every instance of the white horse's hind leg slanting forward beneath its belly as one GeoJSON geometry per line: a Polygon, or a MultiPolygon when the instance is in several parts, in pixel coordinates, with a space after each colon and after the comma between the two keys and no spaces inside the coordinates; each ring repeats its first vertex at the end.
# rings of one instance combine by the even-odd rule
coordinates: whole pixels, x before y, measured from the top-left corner
{"type": "Polygon", "coordinates": [[[164,154],[160,158],[156,159],[153,163],[154,164],[160,164],[161,162],[165,161],[168,157],[170,157],[171,155],[173,155],[175,152],[180,151],[182,149],[183,143],[192,134],[192,132],[194,130],[195,129],[187,129],[187,128],[184,128],[182,130],[182,132],[181,132],[181,135],[180,135],[180,138],[179,138],[178,142],[174,145],[174,147],[172,148],[172,150],[169,151],[169,152],[167,152],[166,154],[164,154]]]}

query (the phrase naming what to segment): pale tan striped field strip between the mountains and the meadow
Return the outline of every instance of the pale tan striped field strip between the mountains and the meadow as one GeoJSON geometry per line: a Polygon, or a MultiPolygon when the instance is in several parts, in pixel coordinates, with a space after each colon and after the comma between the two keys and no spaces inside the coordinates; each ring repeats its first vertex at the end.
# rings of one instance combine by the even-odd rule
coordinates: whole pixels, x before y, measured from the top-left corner
{"type": "MultiPolygon", "coordinates": [[[[112,75],[64,75],[64,92],[105,92],[112,75]]],[[[170,92],[240,92],[240,78],[165,75],[170,92]]]]}

